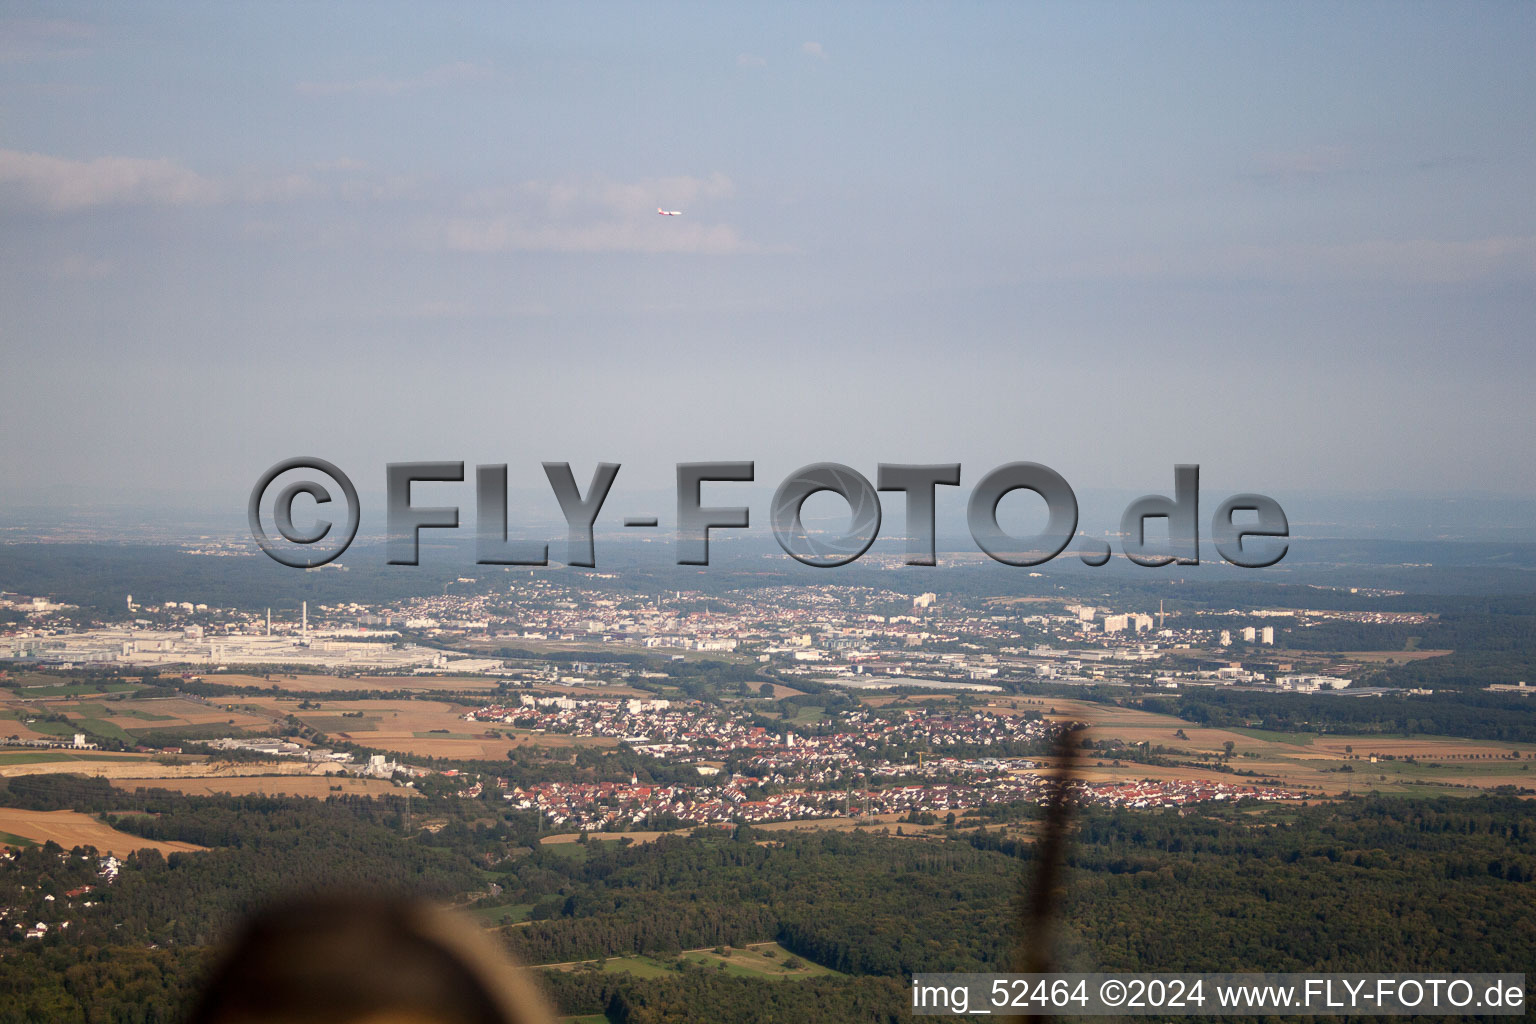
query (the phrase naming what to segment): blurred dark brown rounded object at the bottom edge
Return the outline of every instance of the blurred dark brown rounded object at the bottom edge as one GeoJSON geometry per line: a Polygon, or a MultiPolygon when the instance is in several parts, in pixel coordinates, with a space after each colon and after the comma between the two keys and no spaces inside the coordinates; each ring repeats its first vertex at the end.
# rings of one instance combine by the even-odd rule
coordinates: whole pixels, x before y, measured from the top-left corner
{"type": "Polygon", "coordinates": [[[550,1024],[533,984],[478,924],[427,903],[323,897],[235,935],[195,1024],[550,1024]]]}

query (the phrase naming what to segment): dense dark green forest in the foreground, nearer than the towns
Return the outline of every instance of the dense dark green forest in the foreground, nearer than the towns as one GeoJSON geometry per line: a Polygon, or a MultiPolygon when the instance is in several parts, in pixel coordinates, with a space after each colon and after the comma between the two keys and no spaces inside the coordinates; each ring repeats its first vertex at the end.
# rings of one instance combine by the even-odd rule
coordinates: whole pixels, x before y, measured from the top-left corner
{"type": "MultiPolygon", "coordinates": [[[[739,826],[573,855],[539,846],[531,820],[490,801],[422,798],[407,820],[398,800],[123,794],[68,777],[11,780],[0,801],[86,808],[123,831],[210,847],[127,857],[111,884],[91,851],[28,846],[0,861],[0,1022],[178,1019],[235,921],[278,895],[335,887],[522,907],[528,921],[501,933],[531,964],[668,963],[776,940],[839,972],[550,972],[567,1013],[889,1021],[905,1013],[912,972],[1009,967],[1034,863],[1031,843],[995,829],[739,826]],[[57,920],[60,906],[68,930],[20,936],[17,924],[57,920]]],[[[1482,797],[1092,811],[1075,823],[1063,883],[1064,969],[1519,970],[1536,956],[1536,808],[1482,797]]]]}

